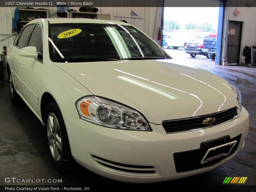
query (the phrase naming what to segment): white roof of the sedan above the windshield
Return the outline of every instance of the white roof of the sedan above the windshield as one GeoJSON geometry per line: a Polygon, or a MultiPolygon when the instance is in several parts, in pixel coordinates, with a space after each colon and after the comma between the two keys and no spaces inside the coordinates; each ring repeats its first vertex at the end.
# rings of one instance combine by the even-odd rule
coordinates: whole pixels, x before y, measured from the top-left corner
{"type": "Polygon", "coordinates": [[[115,25],[130,25],[128,23],[111,20],[100,20],[100,19],[83,19],[83,18],[49,18],[49,19],[35,19],[30,23],[49,21],[51,24],[56,23],[99,23],[99,24],[115,24],[115,25]]]}

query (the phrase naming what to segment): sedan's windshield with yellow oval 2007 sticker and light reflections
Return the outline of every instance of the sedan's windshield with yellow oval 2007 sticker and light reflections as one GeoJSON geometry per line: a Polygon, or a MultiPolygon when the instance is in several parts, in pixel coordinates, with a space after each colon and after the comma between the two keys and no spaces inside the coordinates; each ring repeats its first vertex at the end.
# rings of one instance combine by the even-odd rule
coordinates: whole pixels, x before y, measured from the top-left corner
{"type": "Polygon", "coordinates": [[[50,24],[49,54],[60,62],[171,58],[132,26],[95,23],[50,24]]]}

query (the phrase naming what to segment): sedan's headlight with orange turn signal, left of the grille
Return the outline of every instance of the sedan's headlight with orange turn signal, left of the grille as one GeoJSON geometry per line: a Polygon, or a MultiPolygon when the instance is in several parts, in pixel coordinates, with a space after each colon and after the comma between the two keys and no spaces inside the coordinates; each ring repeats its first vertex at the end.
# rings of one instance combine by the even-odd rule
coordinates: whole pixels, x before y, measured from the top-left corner
{"type": "Polygon", "coordinates": [[[80,117],[106,127],[152,131],[148,121],[138,112],[98,97],[84,97],[76,102],[80,117]]]}

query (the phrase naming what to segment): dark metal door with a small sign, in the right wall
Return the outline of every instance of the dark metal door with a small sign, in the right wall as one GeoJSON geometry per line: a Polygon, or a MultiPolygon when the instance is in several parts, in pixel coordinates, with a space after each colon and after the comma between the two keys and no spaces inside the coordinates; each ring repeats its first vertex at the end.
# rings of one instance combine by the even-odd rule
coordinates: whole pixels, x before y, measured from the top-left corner
{"type": "Polygon", "coordinates": [[[228,46],[227,46],[227,60],[228,64],[238,64],[241,46],[241,21],[228,22],[228,46]]]}

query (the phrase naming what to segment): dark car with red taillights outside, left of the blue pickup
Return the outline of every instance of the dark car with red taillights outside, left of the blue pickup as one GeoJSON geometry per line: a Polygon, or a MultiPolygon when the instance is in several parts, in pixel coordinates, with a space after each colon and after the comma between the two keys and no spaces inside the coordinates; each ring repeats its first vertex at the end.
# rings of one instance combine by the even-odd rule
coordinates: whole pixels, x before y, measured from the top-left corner
{"type": "Polygon", "coordinates": [[[188,42],[185,45],[185,52],[190,54],[191,57],[196,57],[196,55],[204,55],[208,59],[210,59],[210,56],[208,53],[202,52],[203,44],[204,44],[204,39],[196,39],[193,40],[192,42],[188,42]]]}

